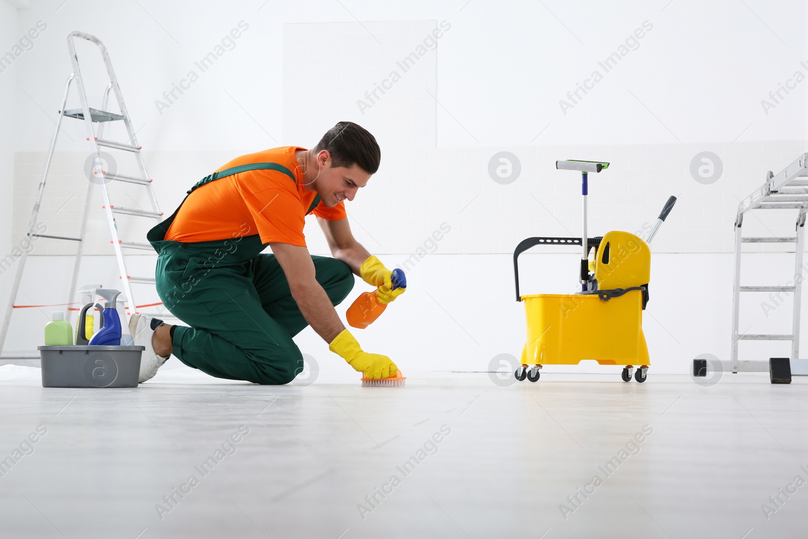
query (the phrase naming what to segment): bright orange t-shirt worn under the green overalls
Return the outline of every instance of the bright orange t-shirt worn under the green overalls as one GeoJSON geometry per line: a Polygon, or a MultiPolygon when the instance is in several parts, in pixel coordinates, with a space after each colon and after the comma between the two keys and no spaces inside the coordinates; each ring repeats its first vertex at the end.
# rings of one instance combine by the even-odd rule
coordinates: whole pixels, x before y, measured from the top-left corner
{"type": "MultiPolygon", "coordinates": [[[[217,172],[233,166],[274,162],[294,175],[279,171],[244,171],[196,187],[180,206],[166,240],[211,242],[259,234],[262,243],[281,242],[305,247],[303,226],[317,196],[306,191],[303,173],[295,159],[297,146],[267,149],[242,155],[217,172]]],[[[320,202],[310,213],[337,221],[345,217],[345,204],[329,208],[320,202]]]]}

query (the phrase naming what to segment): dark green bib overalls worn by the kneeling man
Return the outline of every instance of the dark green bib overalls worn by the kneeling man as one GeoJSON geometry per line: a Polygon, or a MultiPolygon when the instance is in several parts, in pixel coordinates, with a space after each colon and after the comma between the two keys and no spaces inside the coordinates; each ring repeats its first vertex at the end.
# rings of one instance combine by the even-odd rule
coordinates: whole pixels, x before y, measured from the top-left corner
{"type": "MultiPolygon", "coordinates": [[[[296,181],[285,166],[253,163],[208,175],[188,194],[205,183],[253,170],[279,171],[296,181]]],[[[318,202],[319,195],[306,213],[318,202]]],[[[261,254],[267,245],[258,234],[213,242],[166,241],[177,211],[146,236],[158,252],[155,278],[160,299],[171,314],[191,326],[175,329],[174,355],[217,378],[256,384],[292,381],[303,368],[292,337],[308,322],[275,255],[261,254]]],[[[331,303],[339,305],[354,285],[351,268],[341,260],[311,258],[318,283],[331,303]]]]}

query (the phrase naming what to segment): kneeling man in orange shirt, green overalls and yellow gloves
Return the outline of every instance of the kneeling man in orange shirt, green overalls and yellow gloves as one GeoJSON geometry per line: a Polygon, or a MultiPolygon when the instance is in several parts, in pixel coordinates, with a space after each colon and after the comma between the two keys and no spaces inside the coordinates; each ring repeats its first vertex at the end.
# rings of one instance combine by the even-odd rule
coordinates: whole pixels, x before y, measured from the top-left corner
{"type": "Polygon", "coordinates": [[[394,376],[387,356],[364,352],[334,310],[354,274],[378,287],[390,272],[351,234],[343,200],[376,173],[381,150],[372,134],[339,122],[314,149],[295,146],[244,155],[196,183],[175,213],[149,230],[158,252],[157,291],[186,326],[135,314],[135,344],[145,346],[140,381],[174,354],[213,377],[286,384],[303,367],[292,337],[309,324],[368,378],[394,376]],[[314,213],[334,258],[309,255],[305,216],[314,213]],[[261,251],[270,246],[272,255],[261,251]]]}

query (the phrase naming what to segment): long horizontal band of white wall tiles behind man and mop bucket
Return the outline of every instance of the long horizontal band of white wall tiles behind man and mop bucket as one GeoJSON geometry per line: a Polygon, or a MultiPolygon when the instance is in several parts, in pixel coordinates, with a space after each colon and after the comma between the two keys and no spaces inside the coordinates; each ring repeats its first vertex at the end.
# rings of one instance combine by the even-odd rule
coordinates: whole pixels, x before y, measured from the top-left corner
{"type": "MultiPolygon", "coordinates": [[[[739,200],[764,183],[766,171],[780,171],[802,151],[802,141],[389,150],[385,140],[380,142],[381,169],[346,208],[356,238],[369,251],[401,255],[415,253],[443,223],[451,228],[436,247],[444,254],[512,253],[530,236],[580,234],[580,177],[554,165],[566,158],[612,163],[607,171],[590,175],[589,235],[641,230],[654,223],[667,197],[674,195],[678,201],[654,239],[654,252],[732,252],[739,200]],[[692,157],[705,149],[718,154],[724,165],[722,178],[712,185],[696,183],[689,171],[692,157]],[[501,150],[516,154],[522,166],[520,177],[508,185],[495,183],[488,174],[490,157],[501,150]]],[[[224,152],[146,153],[166,217],[193,183],[234,157],[224,152]]],[[[78,234],[87,185],[85,159],[84,154],[57,154],[54,159],[41,212],[50,234],[78,234]]],[[[25,234],[43,162],[44,154],[16,156],[15,242],[25,234]]],[[[141,187],[114,183],[111,196],[113,204],[148,208],[141,187]]],[[[101,206],[96,187],[87,254],[112,252],[101,206]]],[[[795,215],[793,210],[759,212],[744,221],[744,234],[793,234],[795,215]]],[[[139,217],[118,219],[122,237],[133,241],[143,241],[151,225],[153,221],[139,217]]],[[[328,252],[313,217],[306,234],[310,251],[328,252]]],[[[69,254],[73,248],[43,240],[35,254],[69,254]]]]}

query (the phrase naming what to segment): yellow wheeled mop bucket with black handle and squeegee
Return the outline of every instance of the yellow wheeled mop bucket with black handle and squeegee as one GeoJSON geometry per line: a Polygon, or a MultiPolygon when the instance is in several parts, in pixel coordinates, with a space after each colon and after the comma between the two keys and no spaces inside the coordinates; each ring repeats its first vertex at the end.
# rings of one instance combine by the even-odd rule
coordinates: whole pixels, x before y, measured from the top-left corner
{"type": "MultiPolygon", "coordinates": [[[[608,163],[596,162],[558,163],[601,165],[600,169],[594,166],[589,169],[595,172],[608,166],[608,163]]],[[[584,177],[584,200],[586,182],[584,177]]],[[[675,200],[674,196],[667,200],[649,234],[649,242],[670,213],[675,200]]],[[[516,301],[524,301],[527,321],[527,339],[522,349],[521,366],[515,373],[516,379],[521,381],[527,377],[530,381],[537,381],[539,369],[545,364],[579,364],[581,360],[595,360],[599,364],[625,365],[623,381],[631,380],[636,365],[634,379],[646,381],[650,359],[642,333],[642,311],[649,299],[650,249],[647,242],[619,230],[612,230],[602,237],[587,238],[587,246],[582,249],[581,292],[521,296],[517,260],[522,252],[538,245],[583,246],[583,239],[528,238],[520,242],[514,251],[516,301]],[[593,248],[595,255],[590,260],[593,248]]]]}

